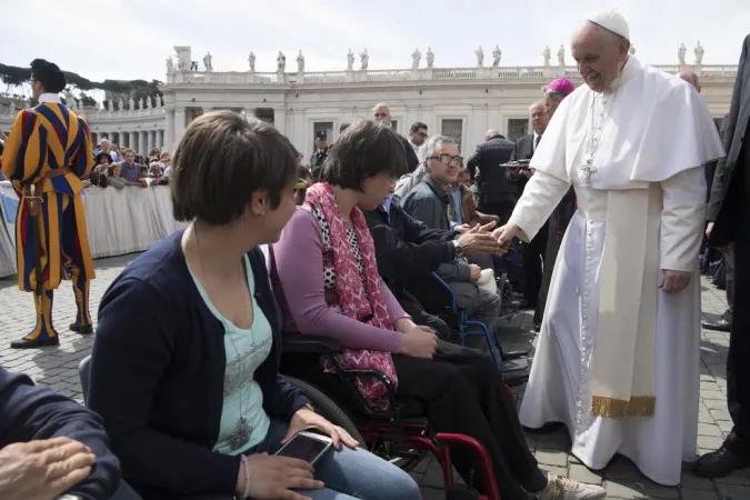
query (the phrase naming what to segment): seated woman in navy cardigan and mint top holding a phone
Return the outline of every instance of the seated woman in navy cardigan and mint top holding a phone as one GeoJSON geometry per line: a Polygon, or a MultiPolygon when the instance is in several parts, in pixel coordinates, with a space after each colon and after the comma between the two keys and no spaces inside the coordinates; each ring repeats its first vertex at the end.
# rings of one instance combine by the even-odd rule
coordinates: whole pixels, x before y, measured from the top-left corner
{"type": "Polygon", "coordinates": [[[296,178],[294,149],[273,127],[230,111],[198,118],[171,178],[174,217],[191,224],[133,260],[101,300],[89,404],[144,500],[421,498],[279,376],[257,247],[292,216],[296,178]],[[303,429],[337,448],[314,468],[273,456],[303,429]]]}

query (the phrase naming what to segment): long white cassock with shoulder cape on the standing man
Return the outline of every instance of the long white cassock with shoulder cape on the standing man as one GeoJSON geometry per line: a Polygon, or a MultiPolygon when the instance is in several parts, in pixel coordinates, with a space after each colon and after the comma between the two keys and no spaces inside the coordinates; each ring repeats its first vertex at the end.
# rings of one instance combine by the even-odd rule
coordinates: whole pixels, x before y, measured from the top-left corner
{"type": "MultiPolygon", "coordinates": [[[[682,460],[694,460],[698,433],[703,163],[723,149],[701,97],[677,77],[630,56],[613,88],[603,94],[583,84],[562,101],[509,221],[523,239],[533,238],[574,186],[578,211],[554,264],[520,420],[533,429],[564,423],[572,453],[591,469],[620,453],[651,480],[673,486],[682,460]],[[592,168],[582,168],[592,157],[592,168]],[[662,269],[692,272],[690,286],[672,294],[658,290],[662,269]],[[622,292],[626,281],[639,289],[622,292]],[[651,380],[652,414],[594,416],[592,392],[608,389],[592,373],[597,343],[620,333],[627,344],[642,330],[652,332],[650,356],[634,348],[622,352],[652,359],[630,367],[651,380]]],[[[622,370],[618,361],[599,363],[622,370]]]]}

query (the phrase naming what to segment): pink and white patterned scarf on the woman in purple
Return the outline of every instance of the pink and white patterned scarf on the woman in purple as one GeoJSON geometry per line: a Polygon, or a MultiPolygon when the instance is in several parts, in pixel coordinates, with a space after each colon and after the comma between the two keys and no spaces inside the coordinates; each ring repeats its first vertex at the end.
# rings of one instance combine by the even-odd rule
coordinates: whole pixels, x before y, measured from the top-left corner
{"type": "MultiPolygon", "coordinates": [[[[322,226],[323,221],[328,226],[330,248],[324,248],[323,251],[332,251],[336,274],[336,299],[331,299],[327,293],[328,306],[339,309],[349,318],[377,328],[392,330],[393,324],[388,316],[386,300],[380,292],[381,279],[378,273],[374,242],[360,209],[354,207],[349,218],[357,234],[363,274],[357,266],[356,253],[347,238],[341,208],[333,197],[331,186],[328,182],[313,184],[308,189],[302,207],[322,216],[322,220],[316,218],[321,224],[321,232],[326,229],[322,226]],[[333,300],[336,302],[331,303],[333,300]]],[[[343,349],[339,359],[344,369],[377,370],[388,377],[393,388],[398,387],[396,367],[390,352],[343,349]]],[[[324,369],[332,371],[334,368],[330,361],[327,361],[324,369]]],[[[358,377],[354,379],[354,384],[368,404],[379,410],[388,408],[387,389],[383,382],[372,377],[358,377]]]]}

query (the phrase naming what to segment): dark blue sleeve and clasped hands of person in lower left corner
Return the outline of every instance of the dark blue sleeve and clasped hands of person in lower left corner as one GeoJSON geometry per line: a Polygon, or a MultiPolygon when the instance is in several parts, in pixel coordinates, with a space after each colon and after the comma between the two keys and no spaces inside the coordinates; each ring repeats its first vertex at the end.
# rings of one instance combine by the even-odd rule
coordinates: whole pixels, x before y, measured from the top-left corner
{"type": "Polygon", "coordinates": [[[0,368],[0,498],[104,500],[120,484],[99,416],[0,368]]]}

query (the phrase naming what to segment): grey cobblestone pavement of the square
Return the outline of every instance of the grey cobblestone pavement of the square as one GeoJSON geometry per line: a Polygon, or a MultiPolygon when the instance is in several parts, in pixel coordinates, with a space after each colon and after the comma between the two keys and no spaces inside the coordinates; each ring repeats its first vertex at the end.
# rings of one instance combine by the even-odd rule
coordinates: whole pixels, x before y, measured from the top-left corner
{"type": "MultiPolygon", "coordinates": [[[[101,259],[97,261],[98,278],[91,286],[91,311],[120,270],[133,256],[101,259]]],[[[78,381],[78,363],[91,351],[93,339],[67,331],[73,320],[72,290],[64,286],[56,294],[54,322],[62,333],[59,348],[17,351],[8,348],[11,340],[21,337],[33,326],[33,308],[30,296],[21,293],[14,279],[0,280],[0,366],[11,371],[26,372],[37,382],[58,392],[81,400],[78,381]]],[[[716,319],[726,308],[723,291],[703,280],[703,316],[716,319]]],[[[94,314],[96,316],[96,314],[94,314]]],[[[529,332],[531,317],[520,314],[509,323],[503,339],[509,349],[529,348],[534,333],[529,332]]],[[[727,411],[727,350],[729,334],[703,331],[701,342],[701,403],[699,451],[713,450],[731,429],[727,411]]],[[[521,394],[519,394],[521,396],[521,394]]],[[[530,436],[528,442],[542,468],[571,479],[602,483],[608,498],[612,499],[682,499],[682,500],[740,500],[750,499],[750,476],[744,471],[717,481],[706,480],[684,472],[679,488],[664,488],[643,478],[628,460],[618,458],[604,472],[592,472],[569,456],[569,438],[563,432],[549,436],[530,436]]],[[[442,498],[442,479],[431,460],[420,463],[412,472],[422,486],[426,500],[442,498]]]]}

